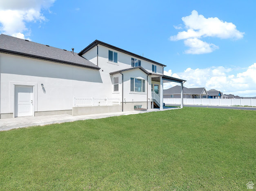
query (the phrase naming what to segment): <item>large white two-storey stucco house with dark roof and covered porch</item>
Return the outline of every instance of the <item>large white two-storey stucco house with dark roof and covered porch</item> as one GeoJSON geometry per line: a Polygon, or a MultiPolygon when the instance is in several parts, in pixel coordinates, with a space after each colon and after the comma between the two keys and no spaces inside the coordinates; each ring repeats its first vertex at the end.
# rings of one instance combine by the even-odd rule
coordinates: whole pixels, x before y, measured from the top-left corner
{"type": "Polygon", "coordinates": [[[185,82],[164,67],[98,40],[74,53],[1,34],[0,117],[163,109],[163,83],[185,82]]]}

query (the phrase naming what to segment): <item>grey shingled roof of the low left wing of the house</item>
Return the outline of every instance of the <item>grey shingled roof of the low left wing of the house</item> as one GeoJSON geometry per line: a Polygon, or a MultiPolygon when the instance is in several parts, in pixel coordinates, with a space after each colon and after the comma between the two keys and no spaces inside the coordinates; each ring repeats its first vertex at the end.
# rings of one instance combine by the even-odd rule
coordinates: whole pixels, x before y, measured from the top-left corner
{"type": "Polygon", "coordinates": [[[74,53],[73,56],[71,51],[50,47],[48,45],[39,44],[4,34],[0,35],[0,52],[39,60],[69,64],[78,67],[86,67],[97,70],[100,69],[89,60],[79,56],[77,53],[74,53]]]}

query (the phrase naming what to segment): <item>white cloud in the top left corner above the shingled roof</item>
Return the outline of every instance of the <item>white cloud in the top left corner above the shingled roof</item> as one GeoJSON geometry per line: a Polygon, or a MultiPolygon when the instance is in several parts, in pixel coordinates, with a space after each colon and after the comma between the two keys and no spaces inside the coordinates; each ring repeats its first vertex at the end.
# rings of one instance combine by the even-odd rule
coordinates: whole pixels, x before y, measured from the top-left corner
{"type": "Polygon", "coordinates": [[[0,31],[4,34],[25,39],[29,33],[27,22],[46,20],[42,9],[48,9],[55,0],[1,0],[0,31]]]}

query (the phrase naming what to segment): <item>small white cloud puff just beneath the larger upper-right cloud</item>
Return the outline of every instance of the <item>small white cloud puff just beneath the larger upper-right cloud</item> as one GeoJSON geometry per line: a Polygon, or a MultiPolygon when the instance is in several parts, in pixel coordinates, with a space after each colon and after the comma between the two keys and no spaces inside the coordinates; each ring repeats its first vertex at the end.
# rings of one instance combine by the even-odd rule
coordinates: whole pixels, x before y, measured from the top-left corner
{"type": "Polygon", "coordinates": [[[187,54],[203,54],[203,53],[210,53],[219,47],[215,44],[209,44],[198,38],[189,38],[184,41],[184,44],[189,47],[188,50],[185,50],[187,54]]]}

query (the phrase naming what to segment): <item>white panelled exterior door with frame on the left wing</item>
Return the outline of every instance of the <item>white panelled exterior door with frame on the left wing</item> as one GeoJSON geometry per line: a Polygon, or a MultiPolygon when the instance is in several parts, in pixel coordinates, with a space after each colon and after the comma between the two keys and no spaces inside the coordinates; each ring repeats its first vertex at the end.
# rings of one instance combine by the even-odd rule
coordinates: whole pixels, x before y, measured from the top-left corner
{"type": "Polygon", "coordinates": [[[33,116],[33,87],[15,86],[15,117],[33,116]]]}

